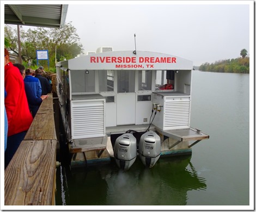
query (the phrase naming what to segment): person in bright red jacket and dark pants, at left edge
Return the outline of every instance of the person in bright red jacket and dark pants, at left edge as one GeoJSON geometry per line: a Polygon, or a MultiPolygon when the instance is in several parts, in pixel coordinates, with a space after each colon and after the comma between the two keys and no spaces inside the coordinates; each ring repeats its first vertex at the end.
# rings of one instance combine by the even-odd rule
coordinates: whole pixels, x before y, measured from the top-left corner
{"type": "Polygon", "coordinates": [[[6,168],[15,154],[33,121],[29,111],[25,85],[20,70],[9,60],[9,52],[4,48],[4,87],[8,95],[4,105],[8,118],[7,149],[4,153],[6,168]]]}

